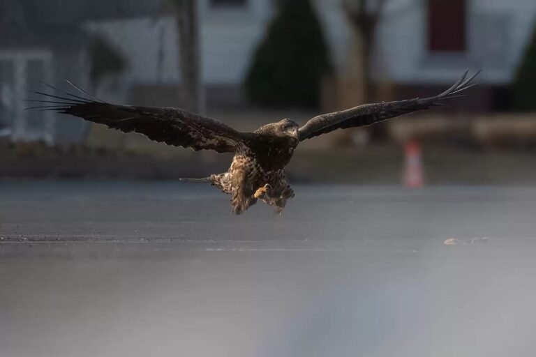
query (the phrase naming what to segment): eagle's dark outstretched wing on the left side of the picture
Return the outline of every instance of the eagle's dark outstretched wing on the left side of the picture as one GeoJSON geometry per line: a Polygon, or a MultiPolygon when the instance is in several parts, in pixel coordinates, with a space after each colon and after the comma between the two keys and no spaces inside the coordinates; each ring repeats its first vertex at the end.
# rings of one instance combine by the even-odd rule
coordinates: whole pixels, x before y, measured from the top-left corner
{"type": "Polygon", "coordinates": [[[52,110],[78,116],[87,121],[105,124],[108,128],[122,132],[140,132],[155,142],[189,147],[195,151],[211,149],[218,153],[234,152],[237,146],[246,144],[253,135],[238,132],[219,121],[178,108],[114,105],[93,96],[89,100],[65,91],[61,91],[64,96],[37,91],[34,93],[47,96],[47,100],[31,100],[45,105],[28,109],[52,110]]]}

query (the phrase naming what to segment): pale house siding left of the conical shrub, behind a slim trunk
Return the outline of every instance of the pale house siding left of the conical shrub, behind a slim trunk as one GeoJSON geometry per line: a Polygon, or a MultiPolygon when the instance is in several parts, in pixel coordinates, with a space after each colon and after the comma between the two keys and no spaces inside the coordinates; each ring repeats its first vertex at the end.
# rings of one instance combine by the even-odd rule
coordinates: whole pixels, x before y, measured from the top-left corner
{"type": "MultiPolygon", "coordinates": [[[[198,2],[202,81],[239,84],[271,15],[270,0],[250,0],[246,7],[198,2]]],[[[180,80],[177,24],[172,15],[89,22],[86,29],[112,43],[128,59],[118,82],[173,84],[180,80]]]]}

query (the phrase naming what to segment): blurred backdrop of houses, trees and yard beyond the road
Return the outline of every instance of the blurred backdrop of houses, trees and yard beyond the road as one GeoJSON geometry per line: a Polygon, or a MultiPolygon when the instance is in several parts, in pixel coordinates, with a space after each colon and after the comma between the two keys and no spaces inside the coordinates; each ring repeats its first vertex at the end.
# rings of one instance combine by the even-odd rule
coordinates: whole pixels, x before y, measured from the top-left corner
{"type": "Polygon", "coordinates": [[[400,183],[416,152],[429,183],[534,183],[535,20],[532,0],[0,0],[0,177],[176,179],[228,167],[216,153],[24,110],[30,90],[53,93],[40,81],[255,130],[434,95],[482,69],[447,108],[305,142],[290,176],[400,183]]]}

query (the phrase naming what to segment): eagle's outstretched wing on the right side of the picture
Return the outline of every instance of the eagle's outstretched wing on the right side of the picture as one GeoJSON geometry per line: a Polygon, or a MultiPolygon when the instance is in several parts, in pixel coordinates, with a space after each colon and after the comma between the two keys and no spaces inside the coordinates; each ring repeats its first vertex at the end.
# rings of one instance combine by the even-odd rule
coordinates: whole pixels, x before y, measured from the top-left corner
{"type": "Polygon", "coordinates": [[[458,82],[438,96],[365,104],[341,112],[315,116],[304,126],[299,128],[299,141],[301,142],[305,139],[310,139],[311,137],[332,132],[337,129],[369,126],[373,123],[378,123],[378,121],[394,118],[395,116],[442,105],[442,100],[456,98],[458,97],[456,96],[456,93],[474,86],[475,84],[470,84],[470,82],[479,73],[480,71],[475,73],[475,75],[468,77],[468,71],[466,71],[458,82]]]}

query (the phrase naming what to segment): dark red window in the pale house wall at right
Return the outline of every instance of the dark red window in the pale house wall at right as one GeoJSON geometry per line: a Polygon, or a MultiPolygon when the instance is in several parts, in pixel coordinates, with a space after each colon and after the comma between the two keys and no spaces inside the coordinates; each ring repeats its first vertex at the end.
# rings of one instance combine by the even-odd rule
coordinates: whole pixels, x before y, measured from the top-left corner
{"type": "Polygon", "coordinates": [[[428,0],[428,49],[466,50],[466,0],[428,0]]]}

